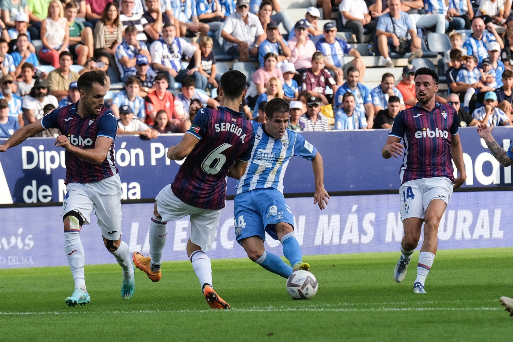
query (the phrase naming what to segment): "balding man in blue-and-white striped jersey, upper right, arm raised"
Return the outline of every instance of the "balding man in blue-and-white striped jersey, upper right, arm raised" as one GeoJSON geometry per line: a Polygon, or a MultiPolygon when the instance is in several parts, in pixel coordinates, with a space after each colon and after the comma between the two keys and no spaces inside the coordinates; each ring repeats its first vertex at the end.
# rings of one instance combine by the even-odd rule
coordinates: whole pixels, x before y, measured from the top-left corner
{"type": "Polygon", "coordinates": [[[472,34],[463,43],[463,48],[466,50],[466,55],[475,56],[477,61],[481,63],[483,58],[488,57],[488,44],[494,41],[499,43],[501,49],[504,48],[502,38],[497,33],[494,24],[488,23],[485,26],[482,18],[475,17],[472,19],[472,34]],[[489,32],[485,32],[485,28],[489,32]]]}

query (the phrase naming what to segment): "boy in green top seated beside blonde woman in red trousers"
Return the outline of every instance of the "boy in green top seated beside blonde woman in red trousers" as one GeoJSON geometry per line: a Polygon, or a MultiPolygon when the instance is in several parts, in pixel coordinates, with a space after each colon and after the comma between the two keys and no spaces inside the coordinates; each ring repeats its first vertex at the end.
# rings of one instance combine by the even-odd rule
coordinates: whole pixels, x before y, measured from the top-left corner
{"type": "Polygon", "coordinates": [[[77,13],[78,9],[74,2],[66,4],[64,16],[68,19],[69,49],[76,56],[76,64],[85,66],[87,59],[93,57],[93,31],[90,27],[84,27],[84,24],[75,21],[77,13]]]}

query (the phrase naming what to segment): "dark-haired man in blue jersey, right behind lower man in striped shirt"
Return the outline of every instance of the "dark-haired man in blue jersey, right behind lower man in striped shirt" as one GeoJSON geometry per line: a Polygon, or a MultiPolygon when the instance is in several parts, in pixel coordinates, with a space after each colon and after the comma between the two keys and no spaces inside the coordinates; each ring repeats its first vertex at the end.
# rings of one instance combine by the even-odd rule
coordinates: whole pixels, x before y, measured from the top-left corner
{"type": "Polygon", "coordinates": [[[342,96],[348,91],[354,94],[354,100],[358,109],[367,117],[367,127],[372,128],[374,122],[374,106],[370,89],[360,83],[360,72],[355,67],[347,69],[347,81],[339,87],[333,99],[334,107],[342,106],[342,96]]]}

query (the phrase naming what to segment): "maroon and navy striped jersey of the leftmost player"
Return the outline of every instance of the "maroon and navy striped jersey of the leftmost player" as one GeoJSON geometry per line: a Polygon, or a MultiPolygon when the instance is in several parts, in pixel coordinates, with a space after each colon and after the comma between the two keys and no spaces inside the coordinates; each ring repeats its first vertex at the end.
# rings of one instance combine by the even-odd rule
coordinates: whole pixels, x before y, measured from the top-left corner
{"type": "Polygon", "coordinates": [[[111,138],[112,144],[107,153],[107,158],[100,165],[89,163],[66,151],[65,184],[99,182],[117,173],[114,162],[114,138],[116,137],[117,120],[106,107],[102,107],[98,116],[81,117],[76,112],[77,105],[78,102],[53,110],[43,117],[41,124],[45,129],[58,128],[62,135],[68,137],[71,145],[81,149],[94,148],[98,136],[111,138]]]}

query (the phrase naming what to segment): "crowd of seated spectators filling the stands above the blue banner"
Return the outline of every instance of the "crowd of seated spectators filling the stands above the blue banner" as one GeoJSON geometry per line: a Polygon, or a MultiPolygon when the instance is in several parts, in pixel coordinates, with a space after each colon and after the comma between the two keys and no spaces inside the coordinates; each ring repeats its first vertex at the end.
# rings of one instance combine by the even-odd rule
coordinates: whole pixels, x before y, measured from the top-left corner
{"type": "Polygon", "coordinates": [[[311,5],[292,23],[277,0],[1,0],[0,137],[75,103],[78,77],[95,69],[123,83],[106,97],[120,134],[185,132],[200,108],[219,105],[228,67],[216,46],[225,61],[258,65],[240,108],[248,119],[264,122],[265,105],[280,97],[290,103],[295,131],[390,129],[400,110],[417,103],[414,61],[428,51],[430,32],[451,44],[438,56],[447,83],[438,102],[458,111],[460,126],[511,124],[511,0],[311,5]],[[337,19],[321,26],[321,17],[337,19]],[[386,68],[396,65],[392,57],[407,57],[401,79],[385,72],[377,87],[366,86],[372,66],[339,31],[381,55],[386,68]]]}

